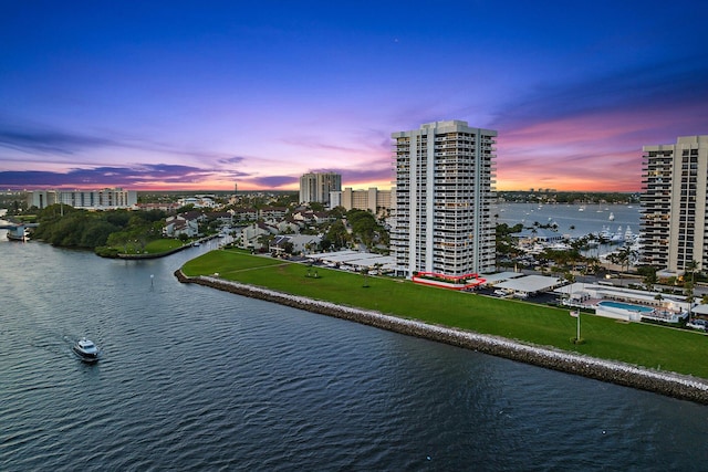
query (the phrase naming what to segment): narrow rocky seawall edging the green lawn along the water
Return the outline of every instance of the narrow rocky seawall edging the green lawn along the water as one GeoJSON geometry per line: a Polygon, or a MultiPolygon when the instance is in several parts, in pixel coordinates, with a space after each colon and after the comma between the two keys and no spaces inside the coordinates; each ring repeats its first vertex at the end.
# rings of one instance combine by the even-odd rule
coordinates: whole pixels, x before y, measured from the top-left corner
{"type": "Polygon", "coordinates": [[[602,381],[653,391],[656,394],[708,405],[708,380],[674,373],[652,370],[628,364],[608,361],[548,347],[531,346],[502,337],[480,335],[461,329],[429,325],[382,313],[341,306],[268,289],[225,281],[211,276],[188,277],[181,270],[175,276],[183,283],[195,283],[238,295],[266,300],[382,329],[421,337],[452,346],[518,360],[602,381]]]}

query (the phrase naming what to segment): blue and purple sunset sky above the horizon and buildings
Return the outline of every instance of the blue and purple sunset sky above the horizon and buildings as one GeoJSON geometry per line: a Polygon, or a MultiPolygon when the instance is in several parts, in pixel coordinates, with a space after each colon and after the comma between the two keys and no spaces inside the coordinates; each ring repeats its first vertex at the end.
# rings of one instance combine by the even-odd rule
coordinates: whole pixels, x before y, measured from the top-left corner
{"type": "Polygon", "coordinates": [[[708,134],[708,4],[0,4],[0,189],[389,188],[391,134],[496,129],[497,188],[641,189],[708,134]]]}

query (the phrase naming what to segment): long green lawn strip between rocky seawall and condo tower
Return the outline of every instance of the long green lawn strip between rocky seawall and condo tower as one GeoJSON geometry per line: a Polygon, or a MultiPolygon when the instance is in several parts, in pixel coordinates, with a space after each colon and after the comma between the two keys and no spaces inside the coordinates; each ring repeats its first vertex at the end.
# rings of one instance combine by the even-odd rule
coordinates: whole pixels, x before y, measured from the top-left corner
{"type": "Polygon", "coordinates": [[[231,250],[211,251],[183,266],[188,276],[218,273],[225,280],[311,298],[708,378],[708,336],[701,334],[583,314],[585,344],[574,345],[570,339],[576,319],[568,310],[323,268],[310,269],[306,276],[308,269],[231,250]],[[315,271],[317,277],[312,276],[315,271]]]}

